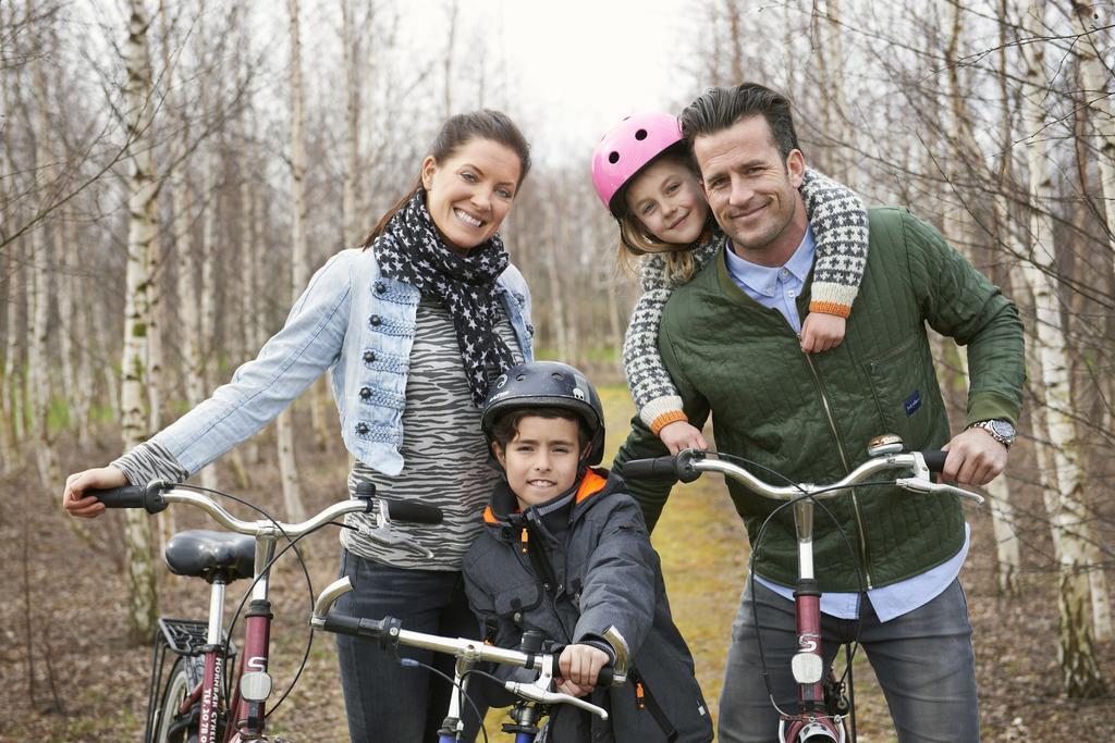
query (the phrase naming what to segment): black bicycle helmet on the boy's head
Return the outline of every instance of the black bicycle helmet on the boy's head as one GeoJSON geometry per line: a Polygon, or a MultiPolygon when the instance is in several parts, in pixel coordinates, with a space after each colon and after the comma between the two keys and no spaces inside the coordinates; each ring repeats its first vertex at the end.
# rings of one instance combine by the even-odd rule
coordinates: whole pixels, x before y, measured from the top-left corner
{"type": "Polygon", "coordinates": [[[523,408],[562,408],[581,417],[591,432],[586,465],[604,458],[604,408],[597,388],[580,370],[556,361],[533,361],[512,366],[492,384],[481,413],[481,428],[492,443],[500,418],[523,408]]]}

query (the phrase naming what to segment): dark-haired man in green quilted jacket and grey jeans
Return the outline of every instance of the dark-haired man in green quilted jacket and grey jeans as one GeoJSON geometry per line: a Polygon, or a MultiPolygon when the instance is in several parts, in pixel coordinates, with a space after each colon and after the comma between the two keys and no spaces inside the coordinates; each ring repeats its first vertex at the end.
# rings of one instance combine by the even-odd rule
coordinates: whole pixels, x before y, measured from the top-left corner
{"type": "MultiPolygon", "coordinates": [[[[715,416],[718,450],[795,482],[840,479],[884,432],[914,450],[944,446],[948,479],[982,485],[998,476],[1024,381],[1014,305],[931,226],[905,209],[872,209],[846,339],[820,355],[802,352],[797,334],[814,247],[797,192],[805,160],[789,101],[758,85],[715,88],[686,108],[681,128],[726,235],[717,258],[675,292],[659,332],[689,420],[700,427],[715,416]],[[927,323],[968,346],[968,412],[951,439],[927,323]]],[[[632,424],[617,466],[666,453],[638,418],[632,424]]],[[[669,485],[632,482],[630,490],[653,528],[669,485]]],[[[728,490],[756,548],[774,505],[736,482],[728,490]]],[[[859,615],[859,639],[900,740],[977,741],[971,626],[957,580],[969,544],[959,502],[874,487],[826,505],[847,536],[818,512],[816,565],[830,656],[836,644],[856,638],[859,615]]],[[[794,706],[792,518],[784,509],[756,548],[755,609],[748,588],[720,700],[725,742],[775,739],[778,715],[763,678],[755,613],[774,696],[794,706]]]]}

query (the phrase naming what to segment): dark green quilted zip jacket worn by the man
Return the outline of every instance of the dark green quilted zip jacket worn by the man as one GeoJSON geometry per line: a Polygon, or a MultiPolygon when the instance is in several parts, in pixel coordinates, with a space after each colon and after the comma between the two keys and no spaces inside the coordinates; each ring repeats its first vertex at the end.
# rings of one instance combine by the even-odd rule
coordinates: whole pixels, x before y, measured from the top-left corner
{"type": "MultiPolygon", "coordinates": [[[[825,353],[803,353],[782,313],[733,282],[723,254],[675,292],[663,312],[659,350],[689,420],[700,427],[711,412],[717,450],[794,482],[832,482],[867,458],[866,443],[880,433],[898,433],[909,449],[939,449],[950,432],[927,325],[968,346],[964,424],[1017,421],[1025,374],[1015,306],[906,209],[872,209],[870,228],[847,334],[825,353]]],[[[797,299],[802,317],[808,286],[797,299]]],[[[617,466],[666,453],[638,417],[632,427],[617,466]]],[[[629,483],[651,528],[670,487],[661,480],[629,483]]],[[[777,504],[734,481],[728,491],[756,549],[756,571],[793,585],[791,509],[770,520],[760,540],[759,529],[777,504]]],[[[952,496],[872,486],[824,505],[841,527],[817,509],[815,561],[824,590],[859,590],[861,575],[866,587],[898,583],[944,563],[963,544],[963,515],[952,496]]]]}

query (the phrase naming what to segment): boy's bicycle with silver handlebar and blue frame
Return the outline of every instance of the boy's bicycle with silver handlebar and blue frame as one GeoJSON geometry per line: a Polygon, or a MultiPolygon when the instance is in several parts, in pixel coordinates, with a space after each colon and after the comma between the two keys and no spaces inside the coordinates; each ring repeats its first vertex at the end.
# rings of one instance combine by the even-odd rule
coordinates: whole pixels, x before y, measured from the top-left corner
{"type": "MultiPolygon", "coordinates": [[[[488,645],[481,639],[443,637],[411,632],[404,629],[398,619],[389,616],[381,619],[369,619],[330,613],[337,599],[350,590],[352,590],[352,585],[348,577],[343,577],[334,580],[321,592],[314,603],[310,626],[314,629],[375,641],[379,643],[381,648],[407,645],[446,653],[457,658],[452,678],[453,693],[449,696],[449,708],[445,722],[438,731],[438,743],[457,743],[462,740],[464,732],[462,700],[468,698],[468,677],[472,674],[483,674],[475,668],[476,663],[496,663],[537,671],[537,676],[530,683],[504,682],[495,676],[483,674],[500,683],[520,700],[512,706],[510,713],[512,722],[503,725],[503,732],[514,733],[515,743],[542,743],[542,741],[549,740],[545,726],[540,722],[546,716],[547,707],[554,704],[571,704],[597,715],[601,720],[608,720],[607,710],[570,694],[551,691],[554,669],[558,666],[558,658],[563,646],[543,642],[541,633],[536,630],[524,632],[518,649],[513,651],[488,645]]],[[[614,646],[623,647],[623,643],[617,642],[614,646]]],[[[403,658],[400,662],[404,665],[418,665],[417,662],[408,658],[403,658]]],[[[597,686],[607,687],[626,683],[627,671],[628,657],[621,653],[610,666],[601,668],[597,686]]],[[[483,726],[481,731],[484,734],[484,740],[487,740],[487,732],[484,731],[483,726]]]]}

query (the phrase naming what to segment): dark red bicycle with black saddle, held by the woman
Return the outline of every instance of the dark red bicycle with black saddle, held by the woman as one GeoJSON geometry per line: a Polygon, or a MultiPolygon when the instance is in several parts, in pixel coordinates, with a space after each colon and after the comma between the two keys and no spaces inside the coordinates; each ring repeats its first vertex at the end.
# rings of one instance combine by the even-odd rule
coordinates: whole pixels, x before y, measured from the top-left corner
{"type": "MultiPolygon", "coordinates": [[[[270,714],[266,703],[273,688],[268,673],[273,617],[268,599],[270,569],[285,549],[294,547],[298,550],[294,545],[300,538],[328,524],[336,525],[333,519],[346,514],[370,514],[375,526],[359,527],[363,536],[428,556],[425,548],[394,531],[391,521],[442,521],[440,509],[377,498],[370,482],[357,487],[356,498],[336,502],[300,524],[283,524],[270,517],[255,521],[237,519],[201,489],[187,485],[154,481],[145,488],[128,486],[89,492],[108,508],[143,508],[148,514],[157,514],[171,504],[187,504],[234,532],[195,529],[178,532],[167,542],[165,557],[172,573],[202,578],[210,584],[210,610],[207,620],[168,617],[158,620],[144,729],[146,743],[269,740],[265,735],[266,715],[270,714]],[[290,545],[277,555],[280,537],[290,545]],[[253,579],[245,613],[244,658],[231,693],[226,693],[226,666],[230,661],[234,664],[236,654],[223,626],[225,587],[242,578],[253,579]],[[164,684],[167,651],[176,657],[164,684]],[[230,711],[235,711],[235,716],[230,717],[230,711]]],[[[295,674],[290,688],[297,681],[295,674]]],[[[275,703],[275,707],[281,702],[275,703]]],[[[280,740],[277,737],[275,743],[280,740]]]]}

